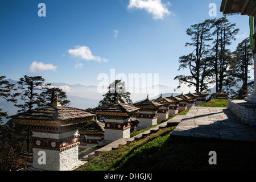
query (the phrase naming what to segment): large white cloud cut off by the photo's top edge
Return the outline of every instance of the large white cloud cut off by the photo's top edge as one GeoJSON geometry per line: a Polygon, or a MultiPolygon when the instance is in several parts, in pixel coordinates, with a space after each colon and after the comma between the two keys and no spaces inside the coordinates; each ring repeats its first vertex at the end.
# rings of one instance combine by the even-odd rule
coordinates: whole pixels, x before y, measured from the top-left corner
{"type": "Polygon", "coordinates": [[[153,19],[163,19],[165,15],[173,14],[167,9],[170,2],[164,5],[161,0],[130,0],[128,9],[146,10],[149,14],[153,15],[153,19]]]}

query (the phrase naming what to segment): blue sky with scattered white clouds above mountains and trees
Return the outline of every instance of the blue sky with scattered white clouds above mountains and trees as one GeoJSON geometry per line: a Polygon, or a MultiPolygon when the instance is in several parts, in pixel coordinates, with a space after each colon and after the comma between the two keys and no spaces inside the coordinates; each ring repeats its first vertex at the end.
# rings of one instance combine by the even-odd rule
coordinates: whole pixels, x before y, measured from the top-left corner
{"type": "MultiPolygon", "coordinates": [[[[174,77],[187,73],[177,71],[179,57],[191,53],[185,31],[220,18],[221,1],[150,2],[155,6],[142,0],[1,0],[1,76],[97,85],[100,73],[115,69],[127,76],[158,73],[159,84],[176,87],[174,77]],[[38,16],[39,3],[46,5],[46,17],[38,16]],[[210,3],[217,5],[216,17],[208,15],[210,3]]],[[[234,51],[249,35],[249,16],[227,18],[240,28],[229,47],[234,51]]]]}

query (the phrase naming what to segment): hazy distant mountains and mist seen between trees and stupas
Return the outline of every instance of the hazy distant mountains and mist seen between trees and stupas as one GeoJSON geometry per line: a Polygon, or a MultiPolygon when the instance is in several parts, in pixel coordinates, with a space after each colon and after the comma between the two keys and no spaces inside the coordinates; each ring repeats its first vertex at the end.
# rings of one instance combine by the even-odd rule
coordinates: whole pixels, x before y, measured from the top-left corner
{"type": "MultiPolygon", "coordinates": [[[[10,82],[10,84],[16,84],[16,80],[7,79],[7,81],[10,82]]],[[[48,82],[49,83],[49,82],[48,82]]],[[[68,100],[71,101],[71,107],[76,107],[79,109],[88,109],[98,106],[98,102],[102,100],[102,94],[98,93],[97,86],[85,86],[81,84],[66,84],[64,82],[52,82],[52,86],[57,86],[63,89],[64,92],[67,93],[68,100]]],[[[241,86],[241,84],[238,84],[241,86]]],[[[152,87],[150,87],[151,89],[152,87]]],[[[154,86],[153,86],[154,88],[154,86]]],[[[179,95],[180,93],[172,92],[174,91],[174,87],[172,86],[166,86],[166,85],[156,85],[156,88],[158,88],[158,92],[155,94],[150,94],[150,100],[154,100],[158,97],[160,97],[160,94],[163,94],[163,97],[170,97],[172,93],[174,96],[179,95]]],[[[214,86],[211,89],[211,92],[208,92],[210,94],[215,92],[216,87],[214,86]]],[[[237,88],[236,88],[237,89],[237,88]]],[[[235,89],[235,90],[236,90],[235,89]]],[[[238,90],[238,89],[237,89],[238,90]]],[[[183,90],[183,93],[186,94],[189,92],[189,88],[187,90],[183,90]]],[[[195,93],[191,90],[192,93],[195,93]]],[[[131,93],[131,100],[134,103],[146,100],[147,93],[131,93]]],[[[22,104],[23,101],[18,100],[19,104],[22,104]]],[[[0,100],[0,107],[3,109],[2,111],[7,111],[9,115],[16,114],[18,107],[15,107],[12,102],[6,102],[5,100],[0,100]]],[[[4,119],[4,122],[7,120],[4,119]]]]}

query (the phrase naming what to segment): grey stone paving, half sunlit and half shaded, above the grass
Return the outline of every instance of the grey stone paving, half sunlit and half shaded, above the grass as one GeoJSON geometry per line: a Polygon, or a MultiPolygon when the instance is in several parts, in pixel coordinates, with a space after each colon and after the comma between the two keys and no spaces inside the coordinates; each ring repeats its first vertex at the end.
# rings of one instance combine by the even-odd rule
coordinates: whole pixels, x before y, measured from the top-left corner
{"type": "Polygon", "coordinates": [[[171,135],[256,142],[256,126],[245,125],[226,107],[193,106],[171,135]]]}

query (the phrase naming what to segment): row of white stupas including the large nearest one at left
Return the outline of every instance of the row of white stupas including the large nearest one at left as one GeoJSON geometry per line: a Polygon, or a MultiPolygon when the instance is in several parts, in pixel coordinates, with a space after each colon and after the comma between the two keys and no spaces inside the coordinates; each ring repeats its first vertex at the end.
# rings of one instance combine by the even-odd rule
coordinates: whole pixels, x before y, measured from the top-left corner
{"type": "MultiPolygon", "coordinates": [[[[181,98],[171,96],[174,100],[161,96],[152,101],[147,98],[134,105],[122,104],[117,100],[114,104],[97,107],[96,114],[105,118],[104,140],[108,143],[119,138],[130,138],[130,118],[133,115],[139,118],[140,127],[148,127],[159,119],[168,118],[169,114],[205,102],[206,96],[204,93],[192,98],[181,94],[181,98]]],[[[57,99],[51,107],[36,108],[11,116],[14,123],[27,126],[32,131],[33,149],[28,159],[32,166],[30,169],[63,171],[80,165],[79,129],[84,127],[85,122],[97,121],[96,114],[61,106],[57,99]]],[[[95,131],[93,133],[97,134],[95,131]]]]}

